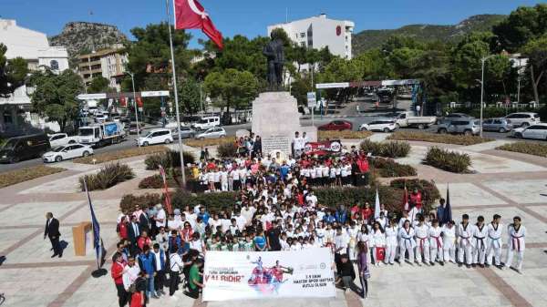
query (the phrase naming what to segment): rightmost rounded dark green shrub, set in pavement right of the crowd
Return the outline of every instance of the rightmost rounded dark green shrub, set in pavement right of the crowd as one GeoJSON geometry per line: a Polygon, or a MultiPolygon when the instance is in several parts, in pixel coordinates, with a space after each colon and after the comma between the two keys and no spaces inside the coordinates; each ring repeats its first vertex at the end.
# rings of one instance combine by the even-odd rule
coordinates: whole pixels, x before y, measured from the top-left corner
{"type": "Polygon", "coordinates": [[[432,147],[429,148],[423,163],[453,173],[466,173],[469,172],[471,158],[466,153],[432,147]]]}

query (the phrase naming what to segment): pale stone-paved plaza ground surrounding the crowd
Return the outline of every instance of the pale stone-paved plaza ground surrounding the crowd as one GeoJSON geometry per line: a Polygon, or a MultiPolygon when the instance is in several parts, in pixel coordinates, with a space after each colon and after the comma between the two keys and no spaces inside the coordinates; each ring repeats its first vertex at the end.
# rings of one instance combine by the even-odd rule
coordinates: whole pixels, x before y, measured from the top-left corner
{"type": "MultiPolygon", "coordinates": [[[[385,138],[383,134],[375,136],[378,140],[385,138]]],[[[475,173],[459,175],[421,165],[424,150],[432,144],[411,144],[410,156],[400,161],[414,165],[420,178],[434,179],[443,195],[449,184],[456,220],[469,213],[473,220],[483,215],[490,221],[492,214],[499,213],[507,225],[514,215],[521,216],[528,229],[522,275],[511,270],[462,269],[452,264],[381,266],[371,268],[366,300],[360,300],[354,293],[337,291],[336,297],[329,300],[202,303],[178,293],[177,302],[162,298],[152,300],[149,306],[545,306],[547,159],[494,150],[492,144],[470,147],[435,144],[470,153],[475,173]]],[[[199,150],[194,149],[194,153],[199,150]]],[[[144,169],[142,160],[139,157],[123,162],[142,178],[152,173],[144,169]]],[[[72,246],[71,227],[90,220],[86,196],[77,191],[77,178],[97,171],[99,166],[63,162],[63,167],[68,170],[0,189],[0,256],[5,257],[0,265],[0,293],[5,293],[5,306],[117,306],[116,290],[109,275],[98,279],[90,276],[96,268],[92,252],[77,257],[72,246]],[[46,211],[52,211],[60,220],[61,239],[67,244],[62,259],[51,259],[49,241],[43,240],[46,211]]],[[[117,241],[119,200],[125,193],[138,191],[139,178],[91,193],[108,250],[107,259],[117,241]]],[[[109,263],[106,267],[109,268],[109,263]]]]}

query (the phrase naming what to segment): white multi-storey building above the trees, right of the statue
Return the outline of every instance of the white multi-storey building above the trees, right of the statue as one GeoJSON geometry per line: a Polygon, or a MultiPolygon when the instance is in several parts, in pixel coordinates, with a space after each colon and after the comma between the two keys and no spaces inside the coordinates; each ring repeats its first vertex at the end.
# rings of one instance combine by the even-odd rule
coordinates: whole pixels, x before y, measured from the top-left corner
{"type": "Polygon", "coordinates": [[[347,20],[329,19],[325,14],[294,20],[290,23],[268,26],[268,36],[276,28],[283,28],[287,35],[300,46],[320,50],[328,46],[335,56],[350,59],[351,35],[355,24],[347,20]]]}

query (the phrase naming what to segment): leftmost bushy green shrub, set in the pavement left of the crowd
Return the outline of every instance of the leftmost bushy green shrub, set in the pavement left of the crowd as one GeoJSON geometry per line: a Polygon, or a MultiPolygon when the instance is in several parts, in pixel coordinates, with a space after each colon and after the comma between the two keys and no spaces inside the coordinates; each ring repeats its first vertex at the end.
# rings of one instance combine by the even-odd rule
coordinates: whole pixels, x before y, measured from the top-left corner
{"type": "Polygon", "coordinates": [[[88,184],[88,190],[108,189],[129,179],[135,178],[135,173],[126,164],[111,163],[104,166],[97,174],[86,175],[79,178],[80,189],[83,191],[84,180],[88,184]]]}

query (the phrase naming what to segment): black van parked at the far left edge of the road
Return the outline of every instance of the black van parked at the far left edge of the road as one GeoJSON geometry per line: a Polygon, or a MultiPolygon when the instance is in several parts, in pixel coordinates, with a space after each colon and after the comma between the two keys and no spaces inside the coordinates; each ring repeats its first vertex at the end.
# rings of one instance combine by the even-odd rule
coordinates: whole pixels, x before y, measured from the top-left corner
{"type": "Polygon", "coordinates": [[[0,149],[0,162],[15,163],[18,161],[41,157],[49,150],[49,138],[45,134],[8,138],[0,149]]]}

